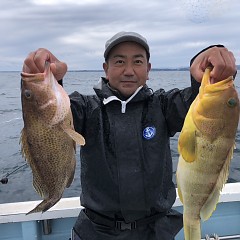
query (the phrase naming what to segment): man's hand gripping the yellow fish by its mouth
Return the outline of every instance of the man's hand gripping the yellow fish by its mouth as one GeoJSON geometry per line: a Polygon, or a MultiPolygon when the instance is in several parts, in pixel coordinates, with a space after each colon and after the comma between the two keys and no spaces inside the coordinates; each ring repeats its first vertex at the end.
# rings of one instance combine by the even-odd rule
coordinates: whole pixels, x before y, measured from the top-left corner
{"type": "Polygon", "coordinates": [[[196,81],[201,82],[205,69],[211,66],[210,82],[216,83],[233,76],[236,71],[236,59],[231,51],[224,47],[212,47],[200,53],[193,61],[190,72],[196,81]]]}

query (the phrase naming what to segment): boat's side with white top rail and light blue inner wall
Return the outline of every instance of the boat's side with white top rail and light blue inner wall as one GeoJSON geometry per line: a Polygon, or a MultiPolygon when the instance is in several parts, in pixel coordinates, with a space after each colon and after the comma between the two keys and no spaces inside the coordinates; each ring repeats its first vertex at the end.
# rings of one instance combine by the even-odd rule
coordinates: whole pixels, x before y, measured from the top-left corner
{"type": "MultiPolygon", "coordinates": [[[[0,204],[0,240],[70,239],[71,229],[82,208],[79,197],[63,198],[43,214],[26,215],[39,202],[0,204]]],[[[178,197],[174,208],[182,212],[178,197]]],[[[201,226],[203,239],[240,239],[240,183],[225,185],[216,211],[201,226]]],[[[176,240],[183,239],[182,230],[176,240]]]]}

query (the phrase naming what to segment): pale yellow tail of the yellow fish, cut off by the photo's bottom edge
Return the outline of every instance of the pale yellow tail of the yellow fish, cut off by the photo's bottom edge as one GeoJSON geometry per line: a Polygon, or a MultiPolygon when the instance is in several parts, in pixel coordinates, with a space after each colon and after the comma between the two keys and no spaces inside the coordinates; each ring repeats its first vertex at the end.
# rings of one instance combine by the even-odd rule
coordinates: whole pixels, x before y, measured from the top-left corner
{"type": "Polygon", "coordinates": [[[184,222],[184,239],[185,240],[201,240],[200,219],[188,219],[183,216],[184,222]]]}

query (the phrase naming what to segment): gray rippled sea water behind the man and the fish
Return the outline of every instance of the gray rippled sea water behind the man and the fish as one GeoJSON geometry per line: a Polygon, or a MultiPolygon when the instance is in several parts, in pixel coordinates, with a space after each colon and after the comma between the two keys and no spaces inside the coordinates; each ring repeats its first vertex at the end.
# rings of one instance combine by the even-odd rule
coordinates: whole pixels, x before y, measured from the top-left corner
{"type": "MultiPolygon", "coordinates": [[[[64,88],[68,93],[79,91],[83,94],[93,94],[93,85],[103,76],[103,72],[68,72],[64,78],[64,88]]],[[[153,90],[164,88],[184,88],[189,86],[188,71],[152,71],[148,86],[153,90]]],[[[239,76],[235,85],[240,92],[239,76]]],[[[20,99],[20,72],[0,72],[0,180],[8,176],[8,183],[0,183],[0,203],[40,200],[41,198],[32,187],[31,169],[21,155],[19,139],[23,127],[21,99],[20,99]]],[[[171,139],[173,157],[173,180],[178,162],[176,134],[171,139]]],[[[74,181],[66,189],[63,197],[76,197],[80,192],[80,161],[79,147],[77,148],[77,167],[74,181]]],[[[236,136],[236,149],[231,162],[228,182],[240,181],[240,130],[236,136]]]]}

